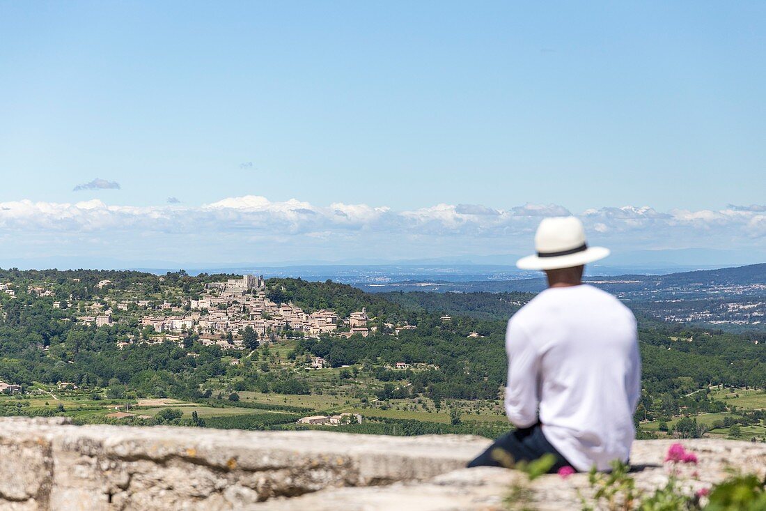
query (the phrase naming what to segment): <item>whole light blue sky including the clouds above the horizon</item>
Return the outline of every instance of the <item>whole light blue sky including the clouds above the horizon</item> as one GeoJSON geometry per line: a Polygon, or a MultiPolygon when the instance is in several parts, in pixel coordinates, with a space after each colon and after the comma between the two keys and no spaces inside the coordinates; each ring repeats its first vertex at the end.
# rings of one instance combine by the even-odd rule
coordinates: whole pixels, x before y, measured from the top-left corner
{"type": "Polygon", "coordinates": [[[764,21],[763,2],[2,2],[0,242],[523,253],[565,212],[617,249],[763,251],[764,21]]]}

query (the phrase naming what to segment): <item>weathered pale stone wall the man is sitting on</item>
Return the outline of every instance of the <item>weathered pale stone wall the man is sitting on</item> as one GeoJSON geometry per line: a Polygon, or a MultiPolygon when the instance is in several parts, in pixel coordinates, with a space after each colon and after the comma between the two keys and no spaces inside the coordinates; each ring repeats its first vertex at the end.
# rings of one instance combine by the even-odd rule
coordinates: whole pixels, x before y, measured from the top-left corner
{"type": "MultiPolygon", "coordinates": [[[[502,509],[519,473],[464,469],[489,440],[321,431],[73,426],[0,418],[0,509],[502,509]]],[[[728,463],[766,471],[766,445],[690,440],[702,486],[728,463]]],[[[637,442],[643,486],[665,481],[669,441],[637,442]]],[[[558,476],[535,481],[539,509],[577,509],[558,476]]]]}

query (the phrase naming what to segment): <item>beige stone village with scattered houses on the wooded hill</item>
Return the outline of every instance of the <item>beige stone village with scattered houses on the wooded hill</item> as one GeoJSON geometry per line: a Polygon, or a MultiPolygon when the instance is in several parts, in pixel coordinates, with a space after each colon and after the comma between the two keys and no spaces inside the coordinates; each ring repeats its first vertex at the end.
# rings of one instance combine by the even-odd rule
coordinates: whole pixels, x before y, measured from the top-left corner
{"type": "MultiPolygon", "coordinates": [[[[72,279],[74,284],[79,279],[72,279]]],[[[163,280],[162,277],[159,279],[163,280]]],[[[201,293],[180,295],[172,300],[146,299],[146,292],[114,292],[116,282],[103,279],[93,286],[100,296],[90,300],[69,295],[66,299],[53,302],[54,309],[77,307],[74,321],[82,325],[97,327],[112,326],[120,322],[139,321],[142,335],[123,338],[118,348],[134,342],[159,344],[183,339],[194,335],[202,345],[218,345],[223,349],[244,350],[261,342],[274,341],[278,336],[319,338],[332,335],[350,338],[352,335],[367,337],[376,326],[368,325],[370,318],[365,308],[351,312],[348,317],[339,317],[336,311],[320,309],[305,312],[292,302],[277,303],[267,297],[263,275],[244,275],[241,278],[222,282],[208,282],[201,293]],[[251,341],[256,339],[256,342],[251,341]],[[250,340],[250,341],[249,341],[250,340]]],[[[142,282],[136,285],[142,285],[142,282]]],[[[17,289],[11,283],[0,284],[0,292],[15,298],[17,289]]],[[[57,294],[45,285],[28,285],[26,292],[38,297],[56,297],[57,294]]],[[[50,299],[50,298],[49,298],[50,299]]],[[[444,318],[449,320],[448,317],[444,318]]],[[[385,327],[394,335],[402,330],[412,330],[415,325],[393,325],[385,327]]],[[[313,358],[312,365],[322,367],[322,358],[313,358]]]]}

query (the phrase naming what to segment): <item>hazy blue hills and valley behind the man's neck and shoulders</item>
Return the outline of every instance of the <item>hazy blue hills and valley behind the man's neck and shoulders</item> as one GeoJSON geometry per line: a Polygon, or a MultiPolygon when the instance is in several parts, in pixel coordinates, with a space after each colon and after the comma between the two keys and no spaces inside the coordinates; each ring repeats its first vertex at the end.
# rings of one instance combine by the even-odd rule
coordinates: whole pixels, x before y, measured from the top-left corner
{"type": "MultiPolygon", "coordinates": [[[[766,330],[766,263],[669,275],[591,276],[641,321],[706,325],[728,331],[766,330]]],[[[545,279],[496,282],[392,282],[358,285],[392,302],[476,318],[509,318],[546,287],[545,279]]]]}

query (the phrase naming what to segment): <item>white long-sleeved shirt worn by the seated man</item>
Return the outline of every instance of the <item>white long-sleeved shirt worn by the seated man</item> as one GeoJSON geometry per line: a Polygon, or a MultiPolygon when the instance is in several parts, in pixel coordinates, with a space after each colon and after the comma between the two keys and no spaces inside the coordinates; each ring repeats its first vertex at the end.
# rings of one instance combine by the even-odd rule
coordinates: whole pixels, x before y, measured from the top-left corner
{"type": "Polygon", "coordinates": [[[581,471],[626,461],[641,393],[636,318],[591,285],[548,288],[508,322],[506,414],[538,420],[553,447],[581,471]]]}

